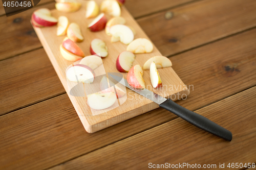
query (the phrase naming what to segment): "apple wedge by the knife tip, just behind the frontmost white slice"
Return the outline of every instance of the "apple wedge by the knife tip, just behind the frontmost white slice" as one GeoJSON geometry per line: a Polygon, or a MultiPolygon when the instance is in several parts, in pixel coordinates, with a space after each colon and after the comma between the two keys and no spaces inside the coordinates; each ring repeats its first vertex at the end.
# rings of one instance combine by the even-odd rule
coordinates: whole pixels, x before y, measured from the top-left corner
{"type": "Polygon", "coordinates": [[[117,98],[122,98],[122,96],[124,96],[124,94],[125,94],[125,91],[123,91],[120,87],[115,85],[115,83],[113,83],[111,80],[109,80],[105,76],[102,77],[99,86],[100,86],[100,90],[102,93],[108,93],[108,92],[115,93],[115,89],[111,88],[111,87],[115,87],[117,98]]]}

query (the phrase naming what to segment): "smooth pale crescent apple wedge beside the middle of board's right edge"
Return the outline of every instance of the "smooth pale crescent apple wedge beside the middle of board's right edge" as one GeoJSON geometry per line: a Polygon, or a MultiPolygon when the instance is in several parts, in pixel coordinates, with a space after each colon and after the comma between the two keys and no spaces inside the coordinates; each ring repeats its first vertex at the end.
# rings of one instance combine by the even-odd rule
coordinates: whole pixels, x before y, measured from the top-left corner
{"type": "Polygon", "coordinates": [[[137,38],[127,46],[126,51],[134,54],[151,53],[153,51],[153,44],[145,38],[137,38]]]}

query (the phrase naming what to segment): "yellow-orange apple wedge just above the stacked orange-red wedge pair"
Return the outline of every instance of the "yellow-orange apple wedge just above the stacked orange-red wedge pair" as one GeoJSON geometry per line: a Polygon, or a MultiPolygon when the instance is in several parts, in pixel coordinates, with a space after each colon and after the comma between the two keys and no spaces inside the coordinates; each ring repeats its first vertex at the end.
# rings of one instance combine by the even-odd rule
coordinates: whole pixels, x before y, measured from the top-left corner
{"type": "Polygon", "coordinates": [[[83,41],[81,29],[77,25],[77,23],[74,23],[74,22],[69,25],[69,28],[67,30],[67,36],[69,37],[69,39],[71,39],[74,42],[83,41]]]}

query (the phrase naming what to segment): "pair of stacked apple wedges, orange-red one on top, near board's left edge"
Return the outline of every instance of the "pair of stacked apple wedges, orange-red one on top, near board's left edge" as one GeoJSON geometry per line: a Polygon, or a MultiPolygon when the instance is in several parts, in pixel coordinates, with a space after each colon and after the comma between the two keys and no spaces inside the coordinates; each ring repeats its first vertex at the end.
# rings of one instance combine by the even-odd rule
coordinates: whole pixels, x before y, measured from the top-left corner
{"type": "Polygon", "coordinates": [[[60,53],[63,58],[69,61],[77,61],[84,57],[84,53],[81,48],[67,37],[60,45],[60,53]]]}

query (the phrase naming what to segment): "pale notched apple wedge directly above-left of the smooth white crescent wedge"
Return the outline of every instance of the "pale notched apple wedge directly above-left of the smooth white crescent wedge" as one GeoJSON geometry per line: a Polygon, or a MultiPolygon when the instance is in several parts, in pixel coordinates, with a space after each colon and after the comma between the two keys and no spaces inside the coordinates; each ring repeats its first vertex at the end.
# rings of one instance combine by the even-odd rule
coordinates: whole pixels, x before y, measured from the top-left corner
{"type": "Polygon", "coordinates": [[[112,42],[116,42],[120,39],[120,41],[126,45],[131,43],[134,39],[133,31],[129,27],[124,25],[112,26],[110,28],[110,34],[114,37],[111,39],[112,42]]]}

